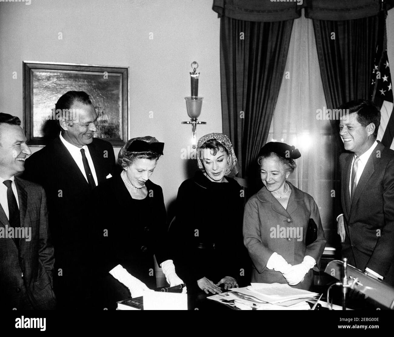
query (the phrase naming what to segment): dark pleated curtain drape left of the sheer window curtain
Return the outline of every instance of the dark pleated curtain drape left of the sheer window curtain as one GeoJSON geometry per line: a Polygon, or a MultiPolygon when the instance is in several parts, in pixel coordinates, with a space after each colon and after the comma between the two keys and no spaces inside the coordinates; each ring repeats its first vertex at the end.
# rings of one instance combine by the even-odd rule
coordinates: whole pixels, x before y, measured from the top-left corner
{"type": "Polygon", "coordinates": [[[293,20],[252,22],[221,18],[223,133],[230,137],[245,178],[266,142],[279,95],[293,20]]]}

